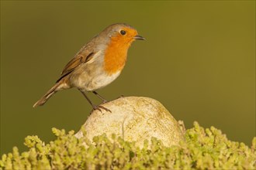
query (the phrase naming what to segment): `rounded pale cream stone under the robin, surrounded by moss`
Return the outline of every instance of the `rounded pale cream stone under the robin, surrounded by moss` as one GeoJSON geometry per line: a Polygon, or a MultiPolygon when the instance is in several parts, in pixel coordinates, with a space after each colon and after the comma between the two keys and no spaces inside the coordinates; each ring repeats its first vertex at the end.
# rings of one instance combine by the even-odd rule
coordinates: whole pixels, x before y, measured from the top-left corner
{"type": "MultiPolygon", "coordinates": [[[[178,122],[157,100],[148,97],[121,97],[102,106],[112,113],[94,110],[83,125],[90,141],[97,135],[111,134],[122,137],[125,141],[136,141],[140,148],[144,140],[152,137],[160,139],[165,146],[178,145],[183,140],[183,133],[178,122]]],[[[82,133],[75,134],[80,138],[82,133]]]]}

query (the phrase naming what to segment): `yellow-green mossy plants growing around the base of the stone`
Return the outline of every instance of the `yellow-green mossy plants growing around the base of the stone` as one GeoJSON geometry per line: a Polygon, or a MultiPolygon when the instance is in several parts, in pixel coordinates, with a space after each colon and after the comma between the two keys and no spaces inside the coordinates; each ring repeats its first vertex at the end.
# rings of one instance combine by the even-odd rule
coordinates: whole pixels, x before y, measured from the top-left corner
{"type": "MultiPolygon", "coordinates": [[[[194,128],[185,131],[179,146],[164,147],[152,138],[144,148],[112,135],[113,142],[101,135],[94,144],[87,138],[77,139],[74,131],[53,128],[57,139],[45,145],[37,136],[25,139],[29,151],[2,155],[0,169],[255,169],[256,138],[249,148],[244,143],[229,141],[216,128],[194,128]],[[85,147],[86,143],[86,147],[85,147]]],[[[85,132],[84,132],[85,133],[85,132]]]]}

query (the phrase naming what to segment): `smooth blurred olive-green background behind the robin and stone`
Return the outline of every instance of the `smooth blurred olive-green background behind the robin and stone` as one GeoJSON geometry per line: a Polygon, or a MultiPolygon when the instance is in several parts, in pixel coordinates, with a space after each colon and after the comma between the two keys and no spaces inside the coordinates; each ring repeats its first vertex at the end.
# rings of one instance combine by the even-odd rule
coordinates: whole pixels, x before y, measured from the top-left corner
{"type": "Polygon", "coordinates": [[[78,90],[32,106],[81,46],[115,22],[147,41],[133,43],[123,73],[102,96],[153,97],[186,128],[199,121],[251,145],[254,1],[1,1],[1,155],[14,145],[23,151],[27,135],[48,142],[53,127],[78,131],[92,109],[78,90]]]}

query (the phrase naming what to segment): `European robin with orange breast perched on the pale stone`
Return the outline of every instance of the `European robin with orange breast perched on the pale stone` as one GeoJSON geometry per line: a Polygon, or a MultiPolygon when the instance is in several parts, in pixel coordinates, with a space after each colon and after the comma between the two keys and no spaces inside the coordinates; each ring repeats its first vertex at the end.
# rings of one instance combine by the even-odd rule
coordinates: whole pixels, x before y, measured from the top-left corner
{"type": "Polygon", "coordinates": [[[59,90],[76,87],[92,105],[93,110],[110,111],[101,105],[92,104],[92,101],[86,96],[86,92],[95,93],[103,103],[107,102],[95,90],[106,87],[116,80],[126,64],[128,49],[136,39],[144,40],[144,37],[139,36],[137,30],[132,26],[117,23],[106,27],[81,47],[74,58],[64,67],[61,77],[54,87],[51,87],[40,100],[36,101],[33,107],[42,106],[59,90]]]}

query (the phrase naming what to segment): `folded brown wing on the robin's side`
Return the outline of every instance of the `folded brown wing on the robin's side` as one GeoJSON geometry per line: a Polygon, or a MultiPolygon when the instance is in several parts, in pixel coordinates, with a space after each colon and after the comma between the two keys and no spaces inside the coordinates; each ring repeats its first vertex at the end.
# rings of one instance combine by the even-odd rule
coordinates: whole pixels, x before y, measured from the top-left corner
{"type": "Polygon", "coordinates": [[[71,59],[70,62],[64,67],[64,70],[61,72],[61,77],[56,81],[59,82],[64,76],[74,71],[76,67],[78,67],[81,63],[86,63],[92,59],[93,52],[89,52],[85,50],[85,46],[71,59]]]}

